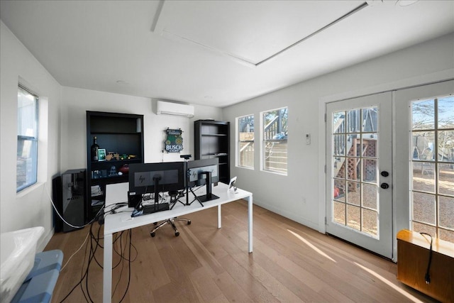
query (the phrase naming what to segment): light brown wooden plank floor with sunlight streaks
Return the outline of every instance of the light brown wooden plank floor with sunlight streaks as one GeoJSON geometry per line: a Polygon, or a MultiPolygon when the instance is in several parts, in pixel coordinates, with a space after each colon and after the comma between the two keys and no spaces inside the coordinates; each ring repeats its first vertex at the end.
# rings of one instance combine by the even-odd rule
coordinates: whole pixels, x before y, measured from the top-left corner
{"type": "MultiPolygon", "coordinates": [[[[179,237],[170,226],[155,238],[152,226],[133,229],[131,277],[123,233],[114,244],[125,253],[123,259],[114,253],[112,302],[120,302],[127,287],[123,302],[435,302],[397,281],[391,261],[259,206],[254,206],[254,247],[248,253],[246,202],[222,209],[221,229],[215,208],[191,214],[191,225],[178,223],[179,237]]],[[[45,250],[62,250],[65,264],[89,230],[56,233],[45,250]]],[[[92,231],[102,235],[97,223],[92,231]]],[[[65,302],[102,301],[102,269],[96,263],[102,265],[102,253],[98,247],[88,279],[65,302]]],[[[84,246],[60,272],[52,302],[60,302],[81,280],[88,255],[84,246]]]]}

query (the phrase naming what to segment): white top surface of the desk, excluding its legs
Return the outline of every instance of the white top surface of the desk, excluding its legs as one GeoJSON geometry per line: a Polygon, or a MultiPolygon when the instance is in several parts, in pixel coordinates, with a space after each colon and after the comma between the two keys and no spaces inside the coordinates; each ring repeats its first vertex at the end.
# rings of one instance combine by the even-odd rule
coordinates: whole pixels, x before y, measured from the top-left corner
{"type": "MultiPolygon", "coordinates": [[[[209,202],[204,202],[202,207],[199,202],[194,201],[191,205],[175,204],[173,209],[167,211],[157,211],[153,214],[145,214],[142,216],[131,217],[133,208],[123,206],[116,209],[116,214],[107,214],[110,205],[119,202],[128,202],[128,183],[108,184],[106,186],[106,218],[104,219],[104,234],[116,233],[125,231],[130,228],[135,228],[147,224],[152,224],[157,221],[163,221],[175,216],[184,216],[195,211],[201,211],[210,207],[218,206],[228,202],[233,202],[238,199],[252,197],[251,192],[243,189],[228,189],[228,185],[218,182],[218,186],[212,187],[211,192],[219,197],[209,202]]],[[[198,196],[206,194],[206,187],[201,187],[195,192],[198,196]]],[[[186,202],[186,197],[180,198],[182,202],[186,202]]],[[[189,192],[189,202],[194,199],[194,195],[189,192]]]]}

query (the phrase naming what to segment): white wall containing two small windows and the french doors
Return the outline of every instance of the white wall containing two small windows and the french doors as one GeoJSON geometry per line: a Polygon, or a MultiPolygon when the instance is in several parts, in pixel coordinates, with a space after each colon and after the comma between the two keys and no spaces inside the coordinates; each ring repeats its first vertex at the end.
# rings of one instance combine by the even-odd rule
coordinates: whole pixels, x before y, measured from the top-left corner
{"type": "MultiPolygon", "coordinates": [[[[324,231],[324,102],[453,78],[453,54],[454,35],[445,35],[226,107],[223,118],[231,121],[233,132],[236,117],[255,114],[255,170],[235,167],[232,161],[231,176],[238,176],[238,187],[253,192],[255,204],[324,231]],[[281,106],[289,107],[287,176],[262,172],[259,162],[260,111],[281,106]],[[306,145],[306,133],[311,134],[311,145],[306,145]]],[[[236,151],[235,137],[231,136],[231,153],[236,151]]]]}

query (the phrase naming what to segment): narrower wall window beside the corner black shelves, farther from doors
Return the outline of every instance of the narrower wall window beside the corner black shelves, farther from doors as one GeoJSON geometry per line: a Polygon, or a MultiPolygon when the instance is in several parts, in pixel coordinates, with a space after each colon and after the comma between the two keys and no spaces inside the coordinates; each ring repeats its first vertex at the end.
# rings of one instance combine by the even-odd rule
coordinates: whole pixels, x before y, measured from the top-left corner
{"type": "Polygon", "coordinates": [[[238,125],[238,153],[239,167],[254,168],[254,115],[236,119],[238,125]]]}

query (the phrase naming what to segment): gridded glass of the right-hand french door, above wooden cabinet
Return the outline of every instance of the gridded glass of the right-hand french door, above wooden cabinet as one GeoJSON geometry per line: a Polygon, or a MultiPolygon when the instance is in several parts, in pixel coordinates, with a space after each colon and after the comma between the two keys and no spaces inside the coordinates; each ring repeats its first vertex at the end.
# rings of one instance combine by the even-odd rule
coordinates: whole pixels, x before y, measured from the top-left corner
{"type": "Polygon", "coordinates": [[[454,97],[411,102],[411,228],[454,242],[454,97]]]}

